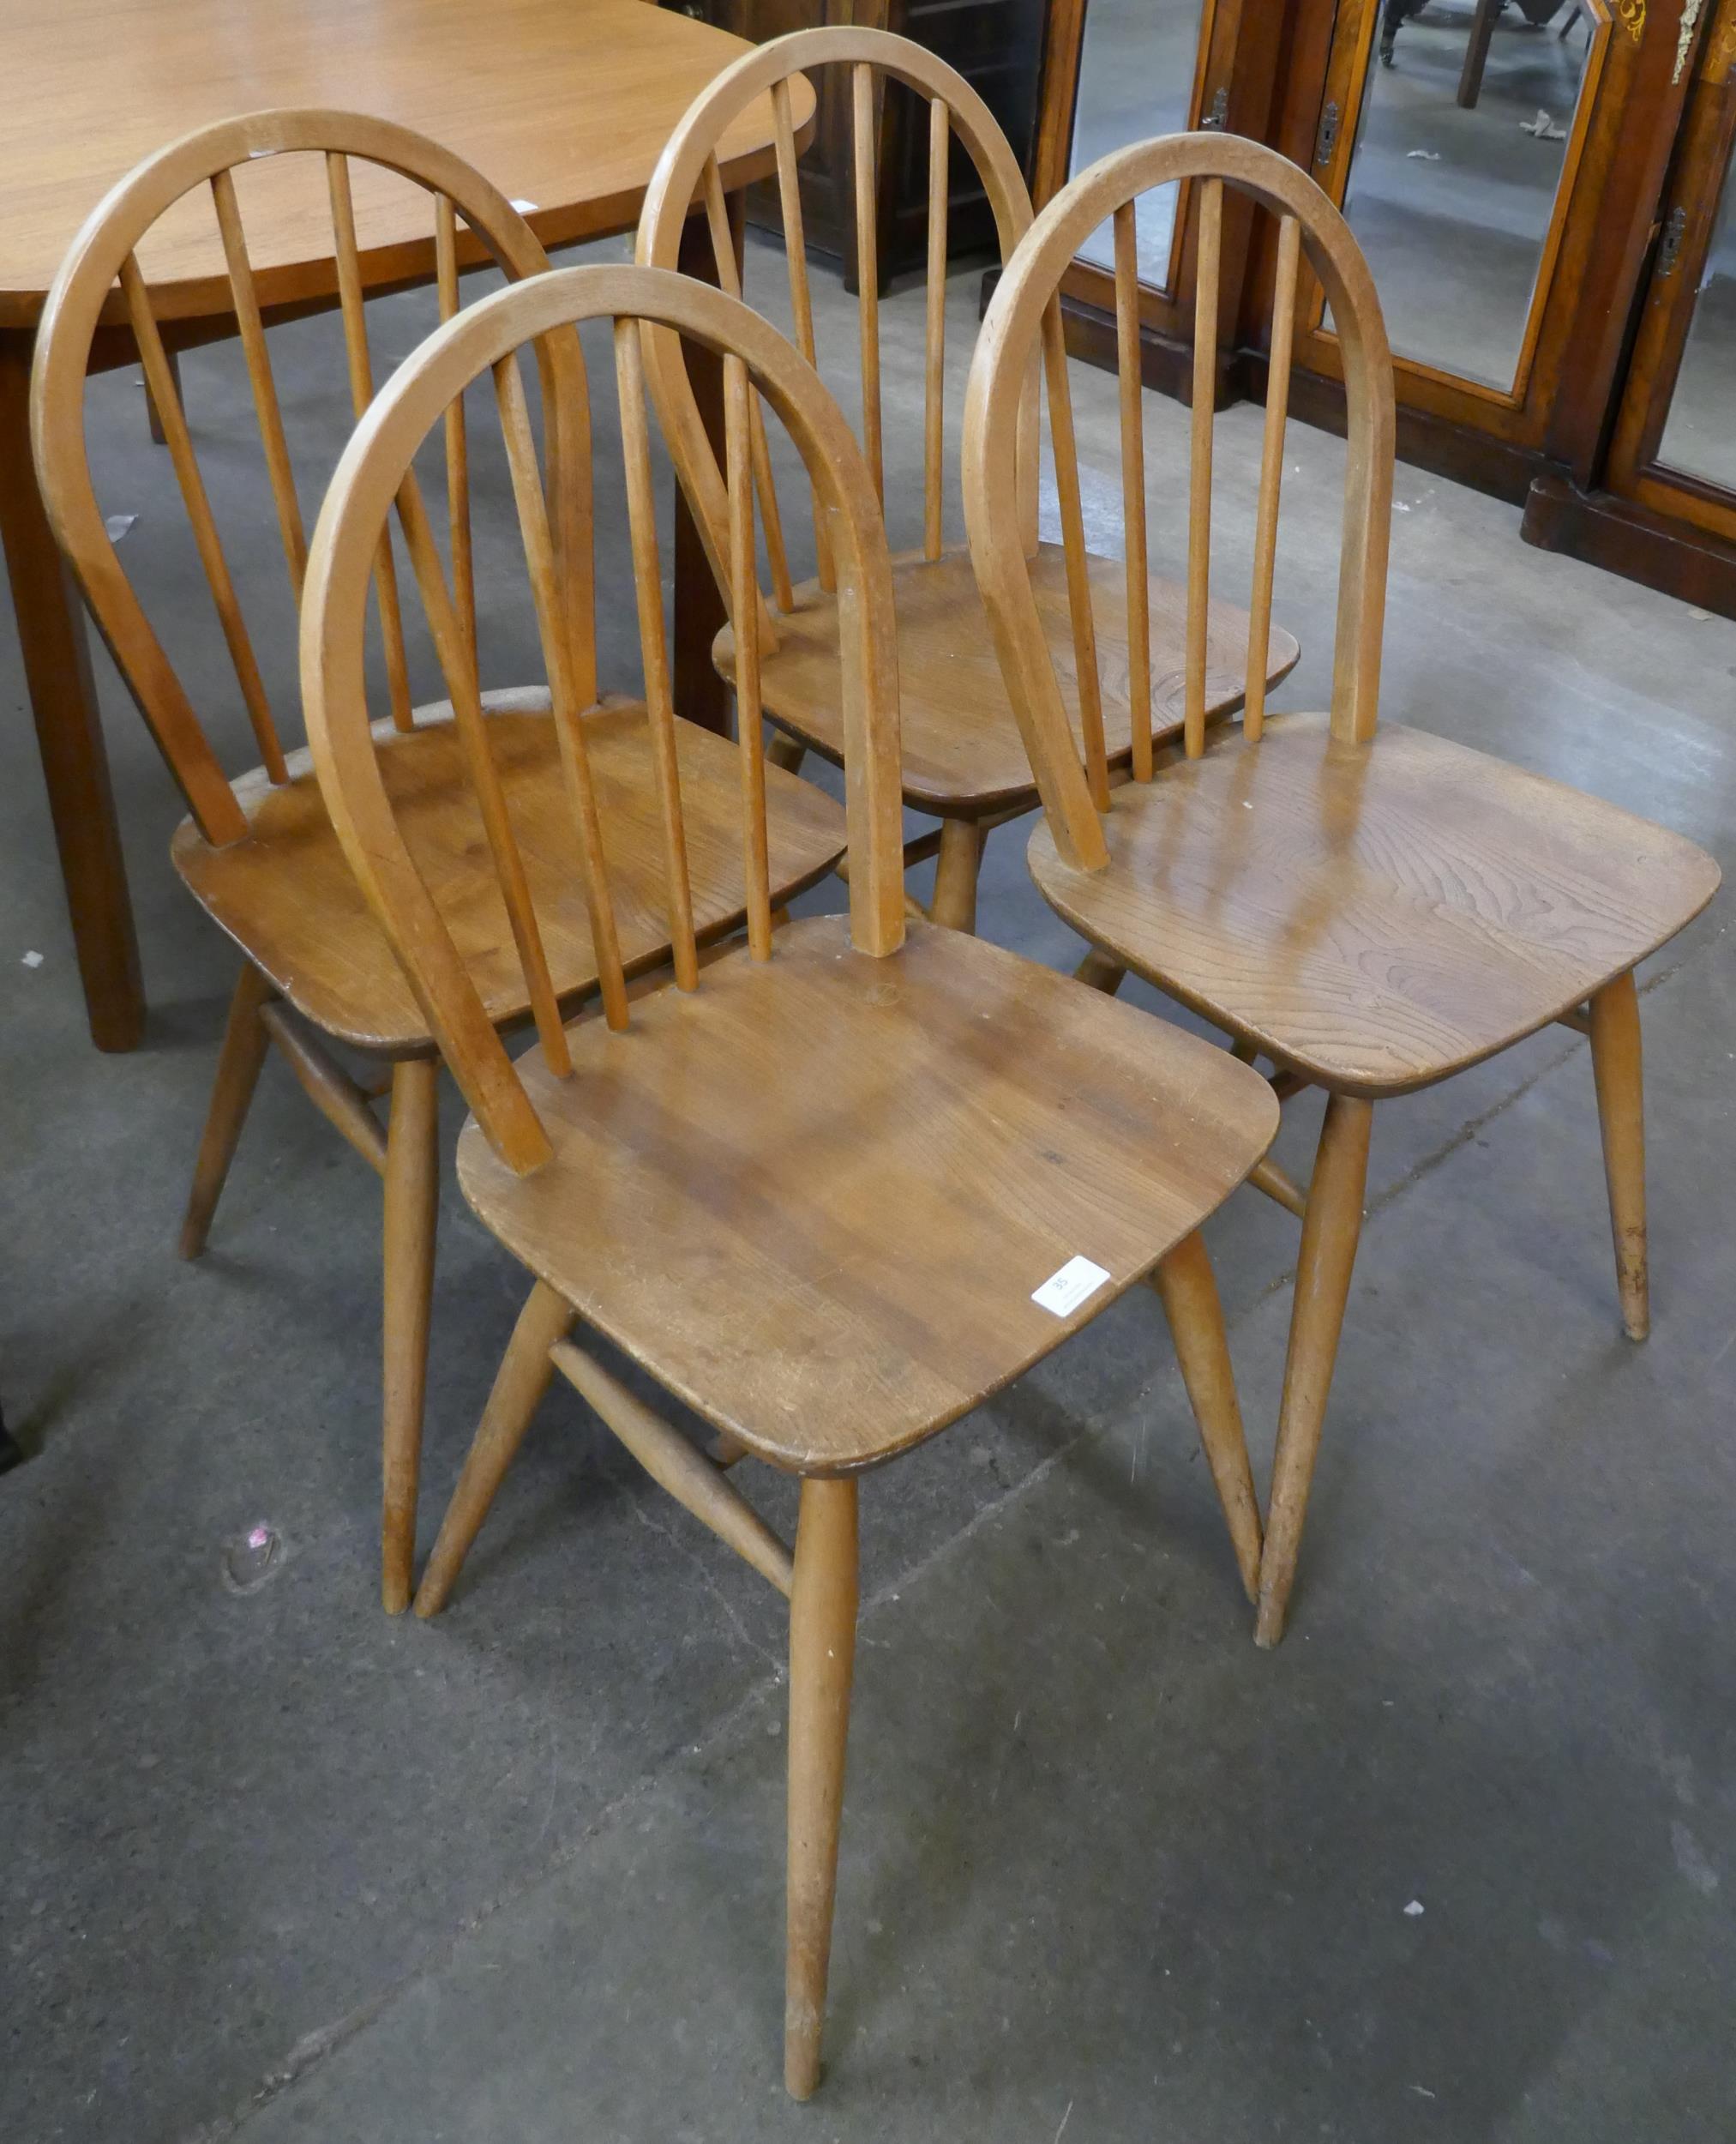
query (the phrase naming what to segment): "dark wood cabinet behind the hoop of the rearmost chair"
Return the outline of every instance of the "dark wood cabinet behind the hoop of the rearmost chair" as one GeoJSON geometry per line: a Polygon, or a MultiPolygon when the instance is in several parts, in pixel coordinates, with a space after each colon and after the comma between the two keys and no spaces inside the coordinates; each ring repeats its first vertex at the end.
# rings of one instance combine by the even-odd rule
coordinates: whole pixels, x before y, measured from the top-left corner
{"type": "MultiPolygon", "coordinates": [[[[686,13],[763,45],[789,30],[849,26],[892,30],[932,51],[960,73],[988,105],[1012,144],[1020,169],[1031,174],[1037,144],[1044,17],[1048,0],[688,0],[686,13]]],[[[855,208],[851,193],[851,90],[840,75],[814,84],[819,124],[802,159],[802,223],[808,244],[844,264],[844,287],[855,289],[855,208]]],[[[748,189],[748,223],[782,238],[784,219],[774,180],[748,189]]],[[[969,157],[952,159],[947,202],[952,259],[999,257],[994,204],[969,157]]],[[[898,86],[885,92],[881,122],[881,193],[877,262],[881,292],[894,277],[919,270],[928,249],[928,109],[898,86]]]]}

